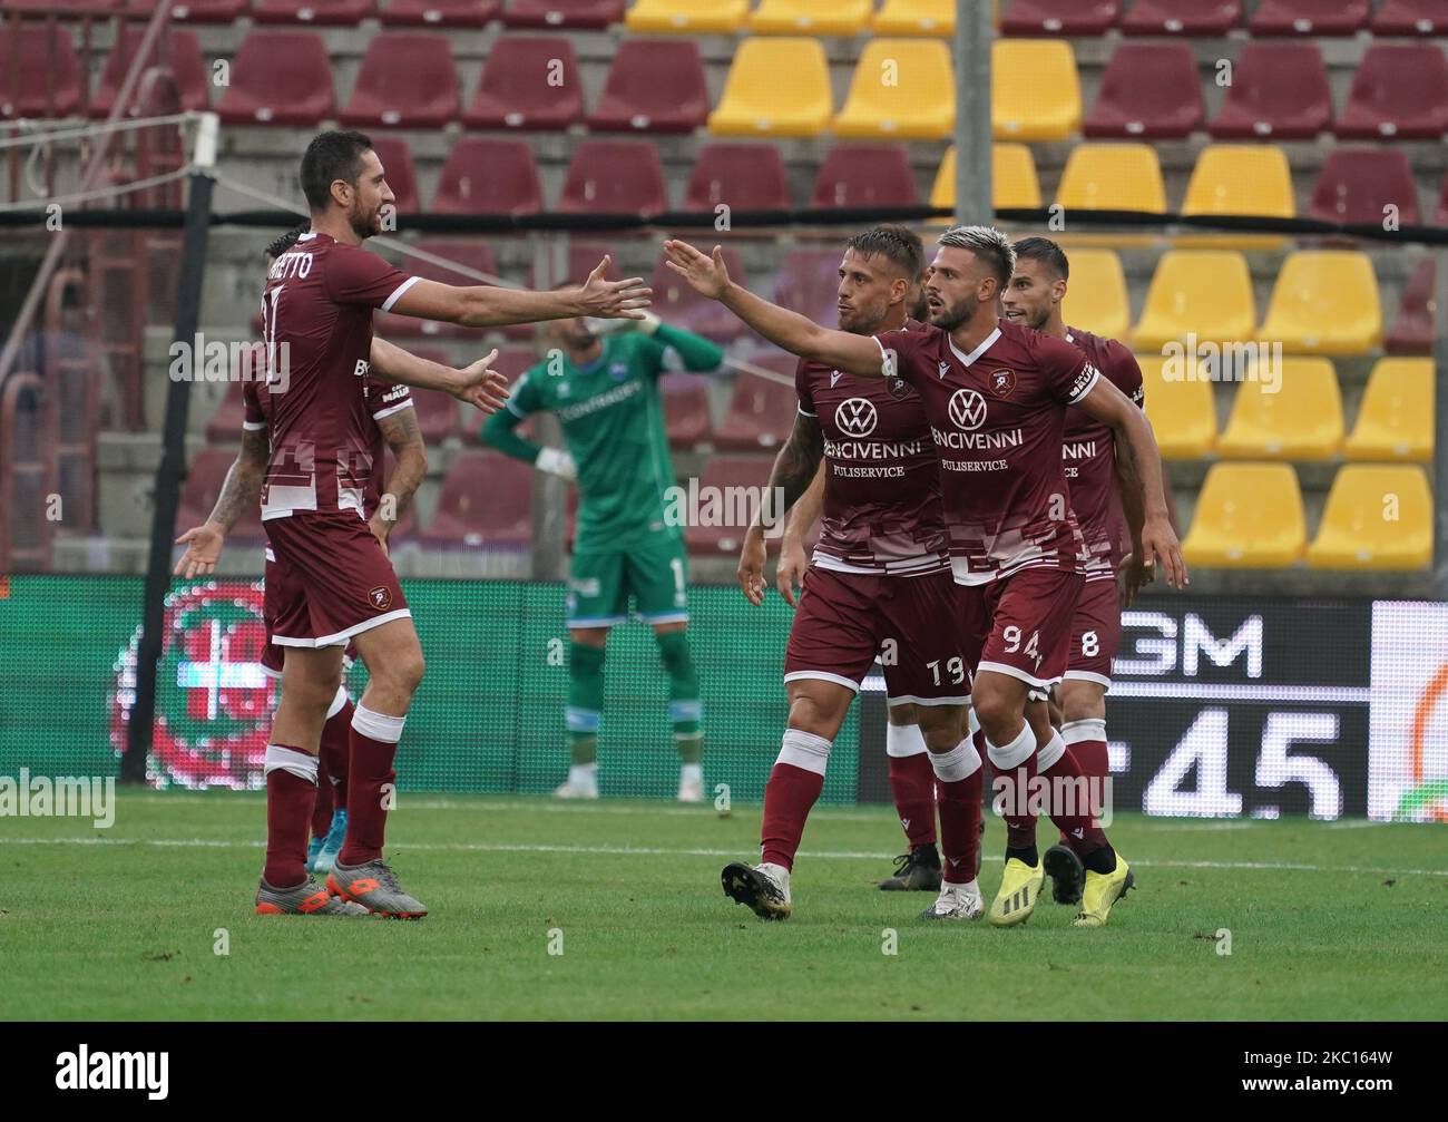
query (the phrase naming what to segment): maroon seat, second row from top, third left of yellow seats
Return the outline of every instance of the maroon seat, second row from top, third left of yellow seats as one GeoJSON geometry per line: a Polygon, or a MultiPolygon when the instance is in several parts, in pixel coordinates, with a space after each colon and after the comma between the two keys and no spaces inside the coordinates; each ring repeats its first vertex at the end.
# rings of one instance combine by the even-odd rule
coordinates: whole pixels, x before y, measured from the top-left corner
{"type": "Polygon", "coordinates": [[[443,33],[382,32],[362,56],[352,100],[337,114],[349,127],[440,129],[458,116],[458,71],[443,33]]]}

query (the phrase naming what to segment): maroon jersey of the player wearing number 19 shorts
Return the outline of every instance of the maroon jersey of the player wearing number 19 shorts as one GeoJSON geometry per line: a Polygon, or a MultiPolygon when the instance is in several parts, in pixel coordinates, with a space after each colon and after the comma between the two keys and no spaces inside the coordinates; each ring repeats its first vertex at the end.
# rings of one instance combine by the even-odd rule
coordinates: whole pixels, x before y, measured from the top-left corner
{"type": "Polygon", "coordinates": [[[919,394],[899,378],[859,378],[809,359],[795,369],[795,389],[824,434],[815,565],[902,576],[948,569],[940,465],[919,394]]]}

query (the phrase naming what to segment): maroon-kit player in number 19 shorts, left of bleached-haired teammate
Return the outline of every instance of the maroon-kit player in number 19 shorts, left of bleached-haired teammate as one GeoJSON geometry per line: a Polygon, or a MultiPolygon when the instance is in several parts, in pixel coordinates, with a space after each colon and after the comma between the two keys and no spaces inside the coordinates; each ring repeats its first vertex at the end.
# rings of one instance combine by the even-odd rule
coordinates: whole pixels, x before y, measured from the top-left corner
{"type": "MultiPolygon", "coordinates": [[[[840,327],[919,333],[906,300],[919,278],[919,239],[882,226],[850,239],[840,265],[840,327]]],[[[957,614],[940,469],[919,397],[898,378],[857,378],[801,359],[799,413],[775,460],[770,492],[788,508],[825,463],[824,530],[785,653],[789,727],[765,788],[760,864],[724,867],[724,893],[765,919],[791,912],[789,874],[805,818],[860,680],[885,666],[889,696],[911,704],[940,783],[944,879],[925,919],[977,919],[980,757],[964,737],[964,653],[941,618],[957,614]]],[[[782,514],[783,511],[770,511],[782,514]]],[[[752,604],[765,589],[765,530],[744,537],[738,578],[752,604]]],[[[931,817],[934,808],[930,808],[931,817]]]]}

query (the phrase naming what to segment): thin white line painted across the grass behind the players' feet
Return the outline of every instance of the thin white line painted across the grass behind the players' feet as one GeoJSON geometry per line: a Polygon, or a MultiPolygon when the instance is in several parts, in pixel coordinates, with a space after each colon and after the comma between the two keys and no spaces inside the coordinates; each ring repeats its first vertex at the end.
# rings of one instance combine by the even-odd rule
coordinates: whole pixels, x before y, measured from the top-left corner
{"type": "MultiPolygon", "coordinates": [[[[214,848],[214,850],[259,850],[265,841],[219,841],[216,838],[0,838],[0,845],[155,845],[161,848],[214,848]]],[[[482,841],[421,841],[403,843],[397,853],[408,850],[456,851],[456,853],[571,853],[613,857],[740,857],[740,850],[695,850],[657,848],[646,845],[536,845],[531,843],[482,843],[482,841]]],[[[854,850],[801,850],[801,859],[825,859],[841,861],[893,860],[889,853],[863,853],[854,850]]],[[[1001,857],[988,854],[988,861],[1001,857]]],[[[1448,869],[1384,869],[1355,864],[1302,864],[1296,861],[1174,861],[1134,857],[1132,866],[1142,869],[1234,869],[1244,872],[1300,872],[1300,873],[1396,873],[1399,876],[1448,876],[1448,869]]]]}

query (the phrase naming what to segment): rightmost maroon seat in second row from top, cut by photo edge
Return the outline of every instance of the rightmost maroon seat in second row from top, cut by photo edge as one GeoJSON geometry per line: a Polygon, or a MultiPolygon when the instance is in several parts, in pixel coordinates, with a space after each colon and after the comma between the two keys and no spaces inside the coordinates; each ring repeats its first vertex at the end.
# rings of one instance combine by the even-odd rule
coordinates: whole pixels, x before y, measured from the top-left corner
{"type": "Polygon", "coordinates": [[[1448,130],[1448,59],[1436,43],[1363,52],[1335,132],[1352,140],[1436,140],[1448,130]]]}

